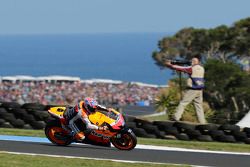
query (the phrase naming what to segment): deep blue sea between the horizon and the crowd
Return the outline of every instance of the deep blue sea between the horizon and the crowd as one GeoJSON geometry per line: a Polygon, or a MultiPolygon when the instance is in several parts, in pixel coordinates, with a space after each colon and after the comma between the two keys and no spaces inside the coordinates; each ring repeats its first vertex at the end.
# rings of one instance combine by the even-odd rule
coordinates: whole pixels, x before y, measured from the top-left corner
{"type": "Polygon", "coordinates": [[[1,35],[0,76],[65,75],[166,85],[152,59],[167,33],[1,35]]]}

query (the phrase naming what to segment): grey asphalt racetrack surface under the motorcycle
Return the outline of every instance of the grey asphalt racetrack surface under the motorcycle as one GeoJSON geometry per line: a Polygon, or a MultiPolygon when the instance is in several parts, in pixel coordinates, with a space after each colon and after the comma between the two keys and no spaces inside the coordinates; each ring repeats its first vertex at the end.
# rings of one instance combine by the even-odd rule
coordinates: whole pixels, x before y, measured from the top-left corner
{"type": "Polygon", "coordinates": [[[71,144],[67,147],[55,146],[48,142],[27,142],[0,140],[1,152],[32,153],[59,156],[73,156],[122,161],[140,161],[150,163],[189,164],[195,166],[237,166],[250,164],[250,154],[209,153],[178,150],[155,150],[135,148],[132,151],[121,151],[92,145],[71,144]]]}

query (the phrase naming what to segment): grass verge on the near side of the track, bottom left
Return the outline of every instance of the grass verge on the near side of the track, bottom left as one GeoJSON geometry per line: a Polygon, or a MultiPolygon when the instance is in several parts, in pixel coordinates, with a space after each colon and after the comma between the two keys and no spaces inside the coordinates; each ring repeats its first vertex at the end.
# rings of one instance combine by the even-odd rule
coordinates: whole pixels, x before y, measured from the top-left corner
{"type": "MultiPolygon", "coordinates": [[[[175,167],[170,164],[124,163],[80,158],[59,158],[34,155],[15,155],[0,152],[1,167],[175,167]]],[[[185,166],[185,165],[183,165],[185,166]]],[[[186,165],[187,166],[187,165],[186,165]]]]}

